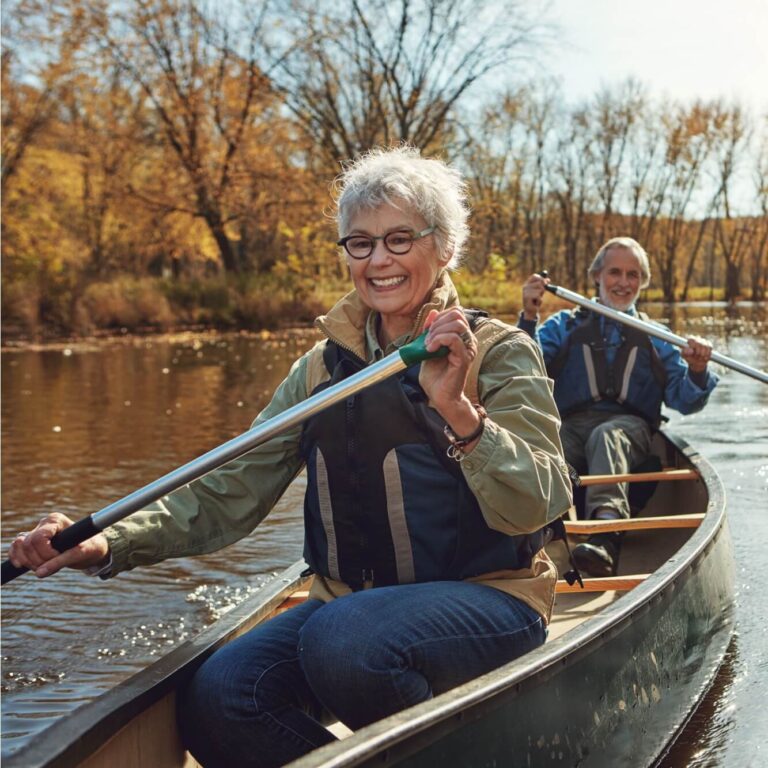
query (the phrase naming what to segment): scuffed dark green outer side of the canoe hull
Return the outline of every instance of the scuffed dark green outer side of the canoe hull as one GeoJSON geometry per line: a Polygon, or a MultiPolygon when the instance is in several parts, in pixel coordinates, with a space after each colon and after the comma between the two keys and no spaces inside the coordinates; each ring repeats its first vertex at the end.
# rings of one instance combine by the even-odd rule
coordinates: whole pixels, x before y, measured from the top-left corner
{"type": "MultiPolygon", "coordinates": [[[[379,750],[350,761],[328,755],[327,765],[651,765],[725,655],[732,634],[730,549],[724,525],[690,570],[598,639],[568,638],[567,652],[544,646],[526,659],[525,673],[514,676],[519,682],[510,680],[506,690],[439,724],[405,733],[384,759],[379,750]]],[[[493,686],[494,676],[509,677],[509,668],[478,683],[493,686]]],[[[418,709],[408,713],[412,722],[418,709]]],[[[325,763],[316,753],[312,764],[325,763]]]]}

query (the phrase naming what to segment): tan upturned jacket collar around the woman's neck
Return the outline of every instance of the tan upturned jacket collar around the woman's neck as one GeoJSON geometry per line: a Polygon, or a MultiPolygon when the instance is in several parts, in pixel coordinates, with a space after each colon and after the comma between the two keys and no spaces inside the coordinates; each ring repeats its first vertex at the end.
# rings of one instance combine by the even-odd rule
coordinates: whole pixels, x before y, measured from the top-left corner
{"type": "MultiPolygon", "coordinates": [[[[448,276],[447,270],[443,270],[437,278],[432,293],[419,310],[413,328],[407,336],[397,339],[396,346],[407,344],[419,335],[424,319],[431,310],[436,309],[440,312],[458,304],[459,295],[456,287],[448,276]]],[[[327,315],[321,315],[315,320],[315,327],[319,328],[331,341],[348,349],[361,360],[369,360],[373,349],[371,349],[372,345],[366,342],[366,327],[376,327],[377,315],[377,312],[372,312],[370,307],[363,303],[357,291],[350,291],[333,306],[327,315]]]]}

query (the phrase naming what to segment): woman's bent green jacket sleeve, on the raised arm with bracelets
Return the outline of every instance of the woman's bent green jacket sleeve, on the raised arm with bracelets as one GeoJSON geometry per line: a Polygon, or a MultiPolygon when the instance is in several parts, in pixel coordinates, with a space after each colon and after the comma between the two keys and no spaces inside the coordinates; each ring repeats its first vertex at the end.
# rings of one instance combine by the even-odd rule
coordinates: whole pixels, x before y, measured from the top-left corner
{"type": "Polygon", "coordinates": [[[530,533],[572,504],[552,381],[535,343],[516,333],[492,347],[478,392],[488,421],[464,475],[491,528],[530,533]]]}

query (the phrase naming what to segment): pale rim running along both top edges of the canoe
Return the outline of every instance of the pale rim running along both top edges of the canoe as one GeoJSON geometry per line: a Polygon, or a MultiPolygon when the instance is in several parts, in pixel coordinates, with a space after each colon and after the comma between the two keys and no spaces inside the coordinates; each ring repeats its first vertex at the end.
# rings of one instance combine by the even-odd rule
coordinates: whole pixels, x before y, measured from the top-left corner
{"type": "MultiPolygon", "coordinates": [[[[698,528],[658,570],[621,600],[521,659],[405,713],[363,728],[292,765],[295,768],[342,768],[364,765],[374,759],[376,765],[393,764],[387,755],[396,762],[402,754],[412,753],[420,743],[430,744],[457,724],[481,717],[483,712],[497,706],[500,697],[517,696],[534,682],[539,684],[554,677],[564,665],[610,642],[622,627],[647,613],[654,603],[669,599],[677,589],[682,589],[695,573],[697,564],[717,546],[723,530],[727,537],[725,496],[720,479],[704,459],[681,441],[668,435],[665,439],[674,444],[682,459],[697,469],[709,498],[707,513],[698,528]]],[[[302,568],[301,563],[295,564],[261,590],[256,603],[256,596],[244,601],[196,638],[55,723],[27,747],[6,757],[4,764],[8,768],[69,768],[81,764],[133,717],[172,694],[213,650],[274,612],[288,595],[306,583],[307,579],[301,576],[302,568]]]]}

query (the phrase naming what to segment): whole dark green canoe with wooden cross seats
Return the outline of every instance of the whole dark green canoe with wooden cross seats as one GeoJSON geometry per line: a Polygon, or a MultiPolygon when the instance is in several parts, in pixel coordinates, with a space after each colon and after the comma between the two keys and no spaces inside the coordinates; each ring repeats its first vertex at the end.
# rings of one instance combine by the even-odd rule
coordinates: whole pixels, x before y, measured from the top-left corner
{"type": "MultiPolygon", "coordinates": [[[[667,433],[656,436],[654,452],[671,474],[627,523],[620,573],[585,579],[583,590],[559,583],[543,646],[355,733],[339,726],[337,742],[292,766],[656,762],[725,655],[734,568],[714,469],[667,433]]],[[[584,526],[568,523],[573,542],[584,526]]],[[[562,543],[549,547],[564,565],[562,543]]],[[[304,599],[304,567],[294,564],[194,639],[35,736],[7,756],[6,768],[197,765],[175,728],[177,687],[214,649],[304,599]]]]}

